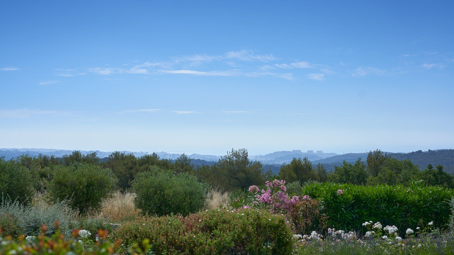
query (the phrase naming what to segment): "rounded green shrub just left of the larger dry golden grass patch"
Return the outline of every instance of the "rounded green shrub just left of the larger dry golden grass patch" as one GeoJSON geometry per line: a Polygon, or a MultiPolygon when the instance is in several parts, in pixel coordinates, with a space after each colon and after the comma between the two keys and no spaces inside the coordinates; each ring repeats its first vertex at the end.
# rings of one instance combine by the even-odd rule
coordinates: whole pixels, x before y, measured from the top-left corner
{"type": "Polygon", "coordinates": [[[90,164],[59,165],[54,169],[54,178],[49,183],[50,201],[68,200],[79,213],[91,209],[98,211],[103,198],[115,188],[117,179],[110,169],[90,164]]]}

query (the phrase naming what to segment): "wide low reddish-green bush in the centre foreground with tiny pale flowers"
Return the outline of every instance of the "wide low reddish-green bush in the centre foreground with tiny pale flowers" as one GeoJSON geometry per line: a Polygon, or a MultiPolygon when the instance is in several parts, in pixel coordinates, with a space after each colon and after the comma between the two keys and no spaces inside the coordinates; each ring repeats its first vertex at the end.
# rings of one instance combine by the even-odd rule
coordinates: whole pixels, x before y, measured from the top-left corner
{"type": "Polygon", "coordinates": [[[125,247],[148,239],[153,254],[290,254],[294,244],[284,216],[249,209],[143,217],[112,235],[125,247]]]}

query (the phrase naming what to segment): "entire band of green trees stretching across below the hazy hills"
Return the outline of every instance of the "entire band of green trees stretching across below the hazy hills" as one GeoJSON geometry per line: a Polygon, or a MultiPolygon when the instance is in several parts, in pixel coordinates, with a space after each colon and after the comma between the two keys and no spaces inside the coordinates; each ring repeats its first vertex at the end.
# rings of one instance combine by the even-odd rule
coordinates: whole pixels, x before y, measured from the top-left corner
{"type": "MultiPolygon", "coordinates": [[[[102,182],[102,186],[128,190],[139,174],[153,172],[157,168],[176,174],[189,174],[195,176],[201,183],[223,190],[245,190],[251,185],[262,185],[265,181],[273,179],[282,179],[287,184],[293,185],[303,185],[307,181],[357,185],[409,185],[412,180],[423,180],[430,186],[454,187],[454,177],[446,173],[443,166],[429,165],[421,171],[409,159],[398,160],[378,149],[370,152],[365,162],[361,161],[361,158],[354,164],[344,161],[341,165],[335,166],[331,172],[321,163],[312,165],[307,157],[293,158],[290,163],[280,167],[278,175],[273,174],[270,167],[265,170],[266,167],[263,167],[261,162],[250,161],[246,149],[232,149],[214,164],[197,166],[185,154],[176,160],[169,160],[160,158],[154,152],[141,157],[135,157],[132,153],[113,152],[109,158],[102,161],[96,152],[84,155],[79,151],[64,155],[62,158],[41,154],[37,157],[22,155],[10,161],[3,158],[0,161],[0,189],[4,195],[12,195],[14,199],[18,198],[21,201],[26,201],[27,197],[33,194],[33,190],[49,191],[49,189],[49,194],[53,194],[55,199],[64,199],[63,196],[72,196],[69,192],[72,189],[65,188],[65,184],[78,186],[82,191],[90,185],[101,186],[102,182]],[[103,181],[92,183],[93,179],[103,181]],[[31,189],[26,183],[31,183],[31,189]],[[52,193],[52,189],[69,191],[65,194],[59,191],[52,193]]],[[[103,192],[107,194],[109,191],[103,192]]],[[[94,196],[88,191],[86,193],[87,197],[94,196]]],[[[97,202],[98,200],[94,199],[94,203],[97,202]]],[[[80,202],[74,207],[85,208],[88,205],[84,203],[80,202]]]]}

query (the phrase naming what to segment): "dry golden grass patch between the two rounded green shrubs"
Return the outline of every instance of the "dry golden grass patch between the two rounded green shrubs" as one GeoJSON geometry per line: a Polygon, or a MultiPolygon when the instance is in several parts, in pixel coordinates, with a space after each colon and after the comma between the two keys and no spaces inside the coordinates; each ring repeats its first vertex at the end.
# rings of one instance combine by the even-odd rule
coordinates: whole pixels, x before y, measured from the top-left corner
{"type": "Polygon", "coordinates": [[[116,191],[113,196],[104,199],[99,216],[115,222],[138,216],[140,209],[134,208],[135,197],[136,194],[132,192],[116,191]]]}

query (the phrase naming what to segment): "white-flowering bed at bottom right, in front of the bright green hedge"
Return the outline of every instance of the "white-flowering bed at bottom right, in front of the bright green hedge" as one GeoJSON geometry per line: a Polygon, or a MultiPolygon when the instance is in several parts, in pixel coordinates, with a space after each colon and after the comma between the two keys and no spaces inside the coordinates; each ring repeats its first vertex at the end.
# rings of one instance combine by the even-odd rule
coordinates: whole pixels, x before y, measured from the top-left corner
{"type": "Polygon", "coordinates": [[[326,235],[312,231],[310,235],[294,235],[294,254],[452,254],[454,234],[434,230],[419,222],[417,231],[407,229],[405,238],[399,236],[396,226],[383,227],[380,222],[366,221],[362,237],[355,231],[329,228],[326,235]],[[424,226],[423,226],[424,225],[424,226]]]}

